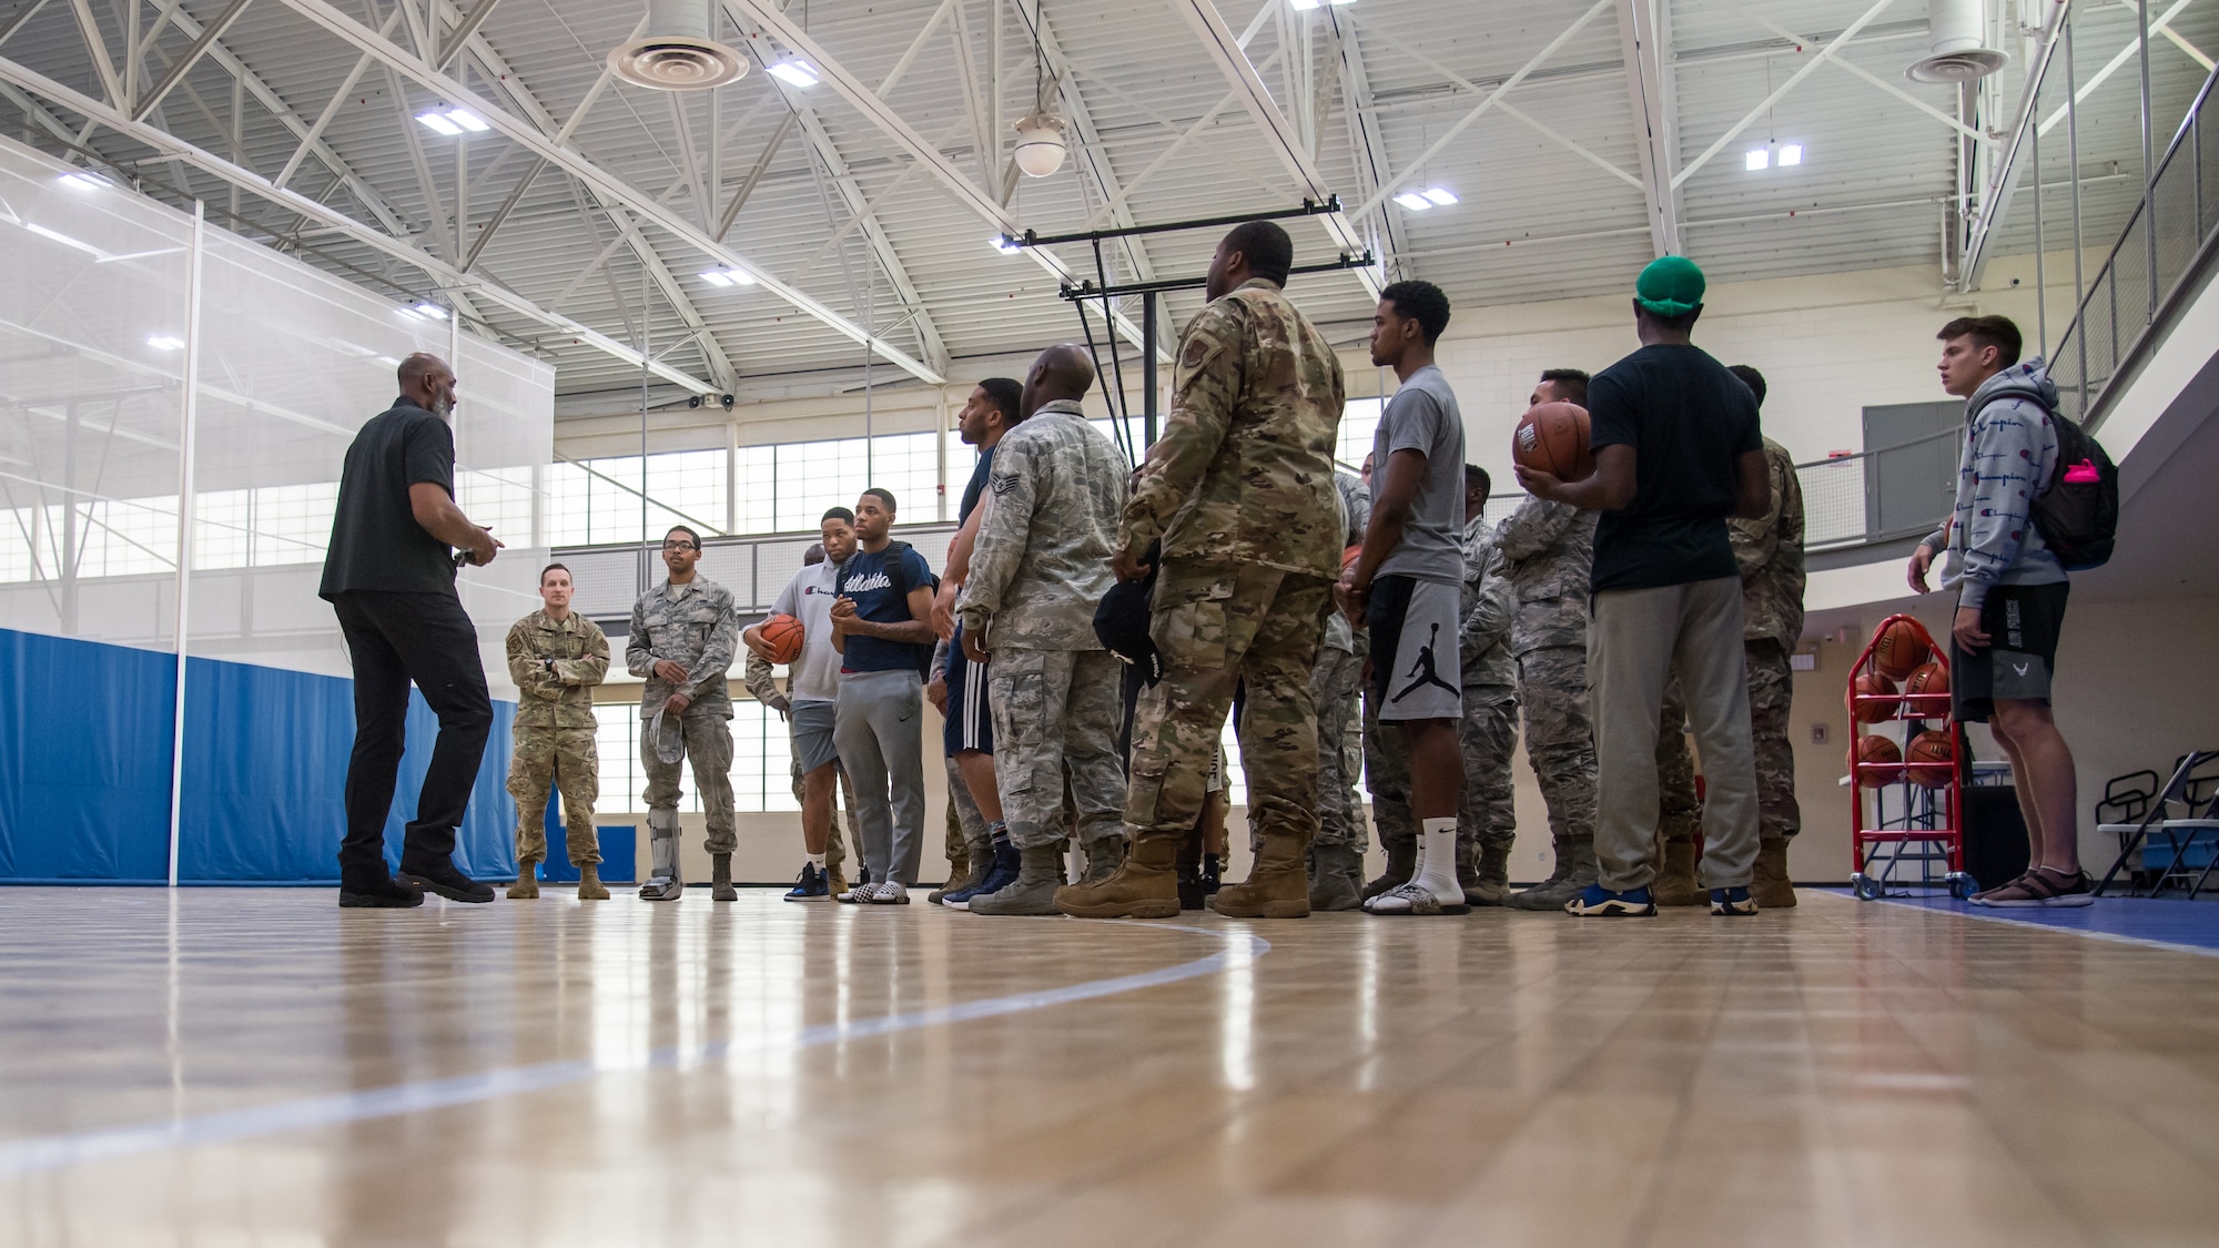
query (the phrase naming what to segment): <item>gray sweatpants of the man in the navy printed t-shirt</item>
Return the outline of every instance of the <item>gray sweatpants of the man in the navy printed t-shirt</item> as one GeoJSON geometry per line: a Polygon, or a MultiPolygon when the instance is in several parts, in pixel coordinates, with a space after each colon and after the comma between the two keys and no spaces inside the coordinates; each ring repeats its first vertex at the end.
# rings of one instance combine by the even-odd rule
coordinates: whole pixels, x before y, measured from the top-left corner
{"type": "Polygon", "coordinates": [[[916,884],[925,848],[925,686],[914,668],[841,673],[832,706],[832,742],[863,822],[863,866],[881,884],[916,884]]]}

